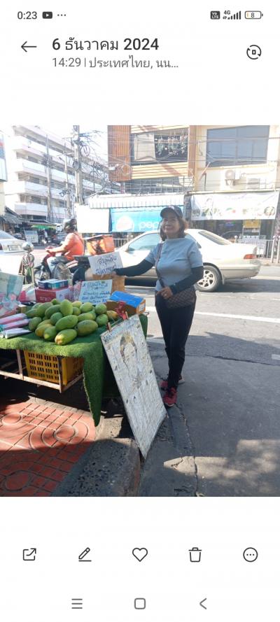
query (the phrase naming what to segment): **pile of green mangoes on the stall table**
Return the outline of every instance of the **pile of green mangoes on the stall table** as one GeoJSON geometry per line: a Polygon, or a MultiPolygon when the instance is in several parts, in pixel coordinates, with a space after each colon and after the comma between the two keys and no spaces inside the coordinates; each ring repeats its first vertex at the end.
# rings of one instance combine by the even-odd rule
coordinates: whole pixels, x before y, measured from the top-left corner
{"type": "Polygon", "coordinates": [[[57,299],[34,304],[26,315],[31,332],[45,341],[55,341],[58,346],[66,346],[76,337],[92,334],[118,318],[115,311],[107,311],[106,304],[93,306],[91,302],[59,302],[57,299]]]}

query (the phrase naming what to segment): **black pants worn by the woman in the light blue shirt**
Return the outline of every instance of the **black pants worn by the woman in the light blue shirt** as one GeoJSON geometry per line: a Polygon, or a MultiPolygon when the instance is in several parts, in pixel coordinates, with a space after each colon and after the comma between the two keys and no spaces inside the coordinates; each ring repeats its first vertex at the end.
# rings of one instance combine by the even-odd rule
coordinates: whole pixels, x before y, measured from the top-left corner
{"type": "Polygon", "coordinates": [[[155,297],[155,308],[162,327],[169,362],[168,388],[177,388],[185,362],[185,346],[193,323],[195,304],[169,309],[165,299],[159,294],[155,297]]]}

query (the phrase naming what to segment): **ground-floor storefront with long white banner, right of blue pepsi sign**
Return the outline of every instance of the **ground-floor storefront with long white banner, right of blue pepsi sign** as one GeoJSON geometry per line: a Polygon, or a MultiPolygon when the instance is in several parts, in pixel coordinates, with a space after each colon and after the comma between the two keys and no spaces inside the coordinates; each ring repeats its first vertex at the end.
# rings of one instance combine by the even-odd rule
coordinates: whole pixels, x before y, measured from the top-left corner
{"type": "Polygon", "coordinates": [[[271,239],[279,204],[279,191],[217,192],[191,197],[192,225],[228,239],[271,239]]]}

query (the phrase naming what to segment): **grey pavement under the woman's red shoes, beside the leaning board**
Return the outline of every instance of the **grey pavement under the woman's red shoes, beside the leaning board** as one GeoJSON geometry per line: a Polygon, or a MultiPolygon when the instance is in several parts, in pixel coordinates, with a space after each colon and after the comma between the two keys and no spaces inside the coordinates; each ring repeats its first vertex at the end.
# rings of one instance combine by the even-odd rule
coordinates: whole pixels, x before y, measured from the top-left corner
{"type": "MultiPolygon", "coordinates": [[[[163,344],[151,355],[165,378],[163,344]]],[[[190,341],[186,382],[144,463],[140,496],[280,496],[280,368],[234,357],[201,356],[190,341]]]]}

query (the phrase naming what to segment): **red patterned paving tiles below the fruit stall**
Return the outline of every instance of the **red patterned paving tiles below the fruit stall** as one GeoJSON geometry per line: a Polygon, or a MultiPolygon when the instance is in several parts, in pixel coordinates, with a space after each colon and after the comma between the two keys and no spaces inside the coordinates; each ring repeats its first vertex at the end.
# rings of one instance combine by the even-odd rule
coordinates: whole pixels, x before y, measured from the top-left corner
{"type": "Polygon", "coordinates": [[[92,418],[51,402],[1,401],[0,496],[49,496],[94,441],[92,418]]]}

